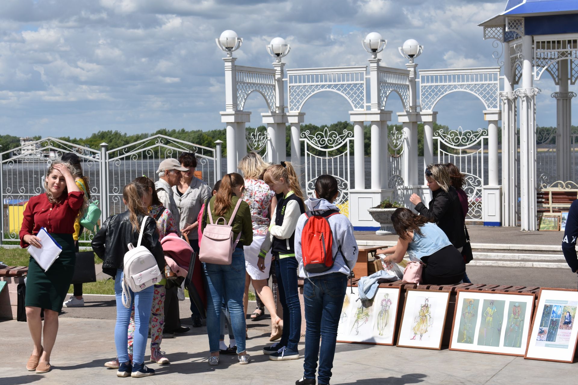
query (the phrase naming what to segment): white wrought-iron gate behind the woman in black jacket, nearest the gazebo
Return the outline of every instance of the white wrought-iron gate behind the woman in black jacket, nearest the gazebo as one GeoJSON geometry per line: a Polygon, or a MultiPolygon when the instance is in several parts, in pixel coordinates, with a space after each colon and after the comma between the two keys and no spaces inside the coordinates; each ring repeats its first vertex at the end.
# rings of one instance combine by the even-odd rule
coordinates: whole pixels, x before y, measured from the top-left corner
{"type": "Polygon", "coordinates": [[[466,175],[464,191],[468,195],[469,210],[466,219],[481,220],[483,214],[482,187],[484,186],[484,140],[485,129],[477,131],[438,130],[434,134],[438,144],[438,163],[453,163],[466,175]],[[442,146],[449,148],[443,149],[442,146]],[[453,149],[453,150],[452,150],[453,149]]]}

